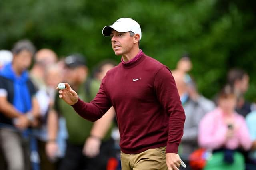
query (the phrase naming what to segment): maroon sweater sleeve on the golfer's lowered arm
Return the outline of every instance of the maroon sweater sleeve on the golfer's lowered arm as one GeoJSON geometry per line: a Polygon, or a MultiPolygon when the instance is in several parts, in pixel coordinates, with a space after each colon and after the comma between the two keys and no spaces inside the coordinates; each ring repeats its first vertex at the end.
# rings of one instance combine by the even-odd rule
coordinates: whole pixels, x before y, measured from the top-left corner
{"type": "Polygon", "coordinates": [[[166,153],[178,153],[183,135],[185,113],[171,71],[162,67],[155,76],[154,88],[158,101],[169,116],[166,153]]]}

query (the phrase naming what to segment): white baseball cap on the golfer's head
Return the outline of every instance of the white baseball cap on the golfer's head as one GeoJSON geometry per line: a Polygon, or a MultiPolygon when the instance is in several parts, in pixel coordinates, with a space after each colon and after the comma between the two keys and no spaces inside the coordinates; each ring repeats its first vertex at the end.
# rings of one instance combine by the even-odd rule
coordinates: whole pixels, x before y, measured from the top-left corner
{"type": "Polygon", "coordinates": [[[112,29],[118,32],[128,32],[131,31],[134,34],[139,34],[141,39],[141,29],[140,24],[133,20],[132,18],[120,18],[110,26],[104,26],[102,29],[103,36],[110,36],[112,29]]]}

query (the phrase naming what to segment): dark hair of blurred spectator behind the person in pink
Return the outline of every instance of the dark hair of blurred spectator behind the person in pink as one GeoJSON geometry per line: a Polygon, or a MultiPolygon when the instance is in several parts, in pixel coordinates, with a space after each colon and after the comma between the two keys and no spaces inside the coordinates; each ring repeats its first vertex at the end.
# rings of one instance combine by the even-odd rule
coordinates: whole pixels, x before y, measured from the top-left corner
{"type": "Polygon", "coordinates": [[[242,69],[231,69],[230,71],[228,71],[228,84],[231,87],[234,87],[236,80],[242,80],[244,75],[247,75],[247,73],[242,69]]]}

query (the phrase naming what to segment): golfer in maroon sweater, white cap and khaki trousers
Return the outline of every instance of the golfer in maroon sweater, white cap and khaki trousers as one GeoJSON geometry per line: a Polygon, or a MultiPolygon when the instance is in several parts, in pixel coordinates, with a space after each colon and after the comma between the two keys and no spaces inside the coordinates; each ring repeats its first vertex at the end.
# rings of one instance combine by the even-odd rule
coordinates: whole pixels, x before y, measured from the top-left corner
{"type": "Polygon", "coordinates": [[[140,25],[120,18],[102,30],[121,63],[108,71],[96,97],[85,103],[65,83],[59,97],[89,121],[113,106],[120,131],[122,170],[178,170],[185,114],[170,69],[139,49],[140,25]]]}

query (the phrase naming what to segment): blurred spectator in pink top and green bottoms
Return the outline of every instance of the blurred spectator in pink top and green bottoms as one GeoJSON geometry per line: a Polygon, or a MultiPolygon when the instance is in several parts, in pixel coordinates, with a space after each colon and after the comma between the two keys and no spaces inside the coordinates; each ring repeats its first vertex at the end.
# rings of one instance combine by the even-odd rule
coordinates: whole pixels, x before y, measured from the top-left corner
{"type": "Polygon", "coordinates": [[[200,122],[199,145],[213,152],[204,170],[245,169],[240,150],[249,150],[252,141],[244,117],[235,112],[235,107],[236,96],[226,87],[218,96],[218,107],[200,122]]]}

